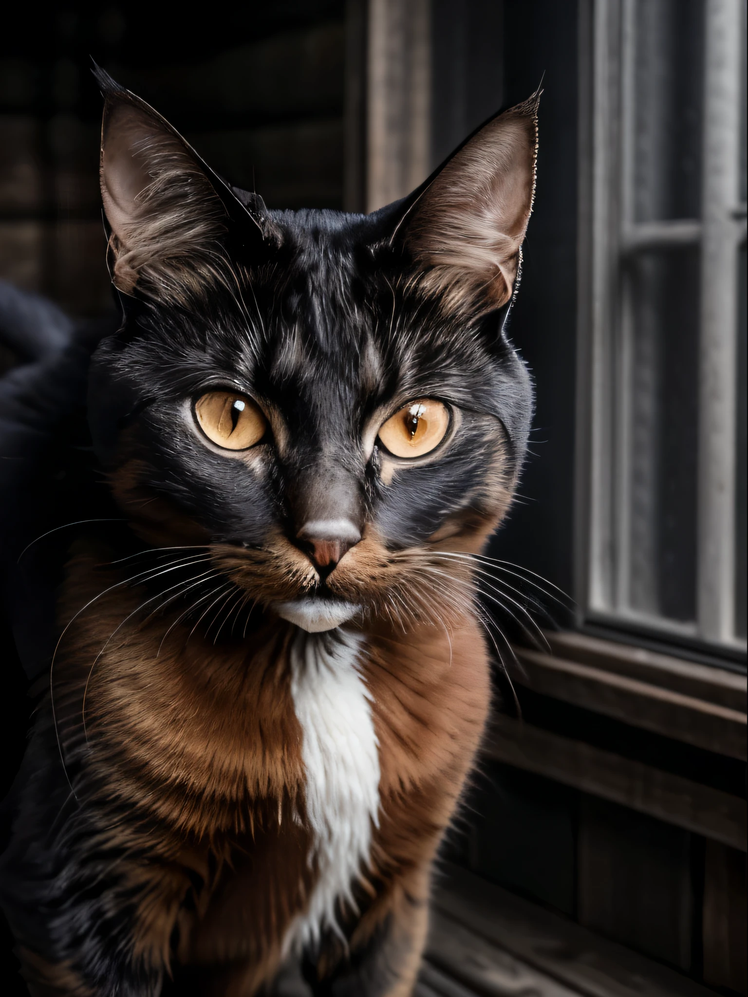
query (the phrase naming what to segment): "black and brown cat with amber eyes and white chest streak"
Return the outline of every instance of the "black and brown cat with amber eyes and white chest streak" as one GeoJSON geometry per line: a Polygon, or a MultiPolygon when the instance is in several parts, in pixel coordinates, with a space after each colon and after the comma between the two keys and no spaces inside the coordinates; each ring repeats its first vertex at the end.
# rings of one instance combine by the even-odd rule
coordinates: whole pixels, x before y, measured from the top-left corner
{"type": "Polygon", "coordinates": [[[66,541],[7,804],[23,976],[249,997],[300,965],[405,997],[491,700],[475,578],[533,409],[505,326],[539,95],[363,215],[267,209],[98,81],[117,511],[66,541]]]}

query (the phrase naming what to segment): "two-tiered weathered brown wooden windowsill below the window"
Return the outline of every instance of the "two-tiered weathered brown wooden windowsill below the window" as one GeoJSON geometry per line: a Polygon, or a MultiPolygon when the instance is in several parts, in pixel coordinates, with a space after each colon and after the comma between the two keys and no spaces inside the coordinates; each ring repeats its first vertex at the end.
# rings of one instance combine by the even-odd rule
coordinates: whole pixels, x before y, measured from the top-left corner
{"type": "MultiPolygon", "coordinates": [[[[715,756],[746,760],[745,676],[577,632],[547,637],[551,653],[515,648],[521,667],[512,679],[519,686],[552,704],[558,700],[673,745],[688,745],[689,751],[709,752],[717,764],[715,756]]],[[[538,724],[497,713],[483,754],[746,849],[746,801],[735,790],[698,781],[698,771],[688,766],[664,771],[658,767],[661,758],[637,757],[625,745],[589,743],[585,737],[573,726],[552,730],[542,718],[538,724]]]]}

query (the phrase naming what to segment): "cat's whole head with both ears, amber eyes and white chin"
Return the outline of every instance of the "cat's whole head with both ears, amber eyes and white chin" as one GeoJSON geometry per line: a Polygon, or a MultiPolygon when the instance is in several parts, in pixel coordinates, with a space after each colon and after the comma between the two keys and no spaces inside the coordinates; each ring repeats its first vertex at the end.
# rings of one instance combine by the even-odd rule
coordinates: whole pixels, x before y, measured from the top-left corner
{"type": "Polygon", "coordinates": [[[525,455],[504,325],[535,185],[537,97],[369,215],[268,210],[100,77],[125,319],[93,362],[115,495],[157,546],[208,547],[308,630],[468,608],[470,558],[525,455]]]}

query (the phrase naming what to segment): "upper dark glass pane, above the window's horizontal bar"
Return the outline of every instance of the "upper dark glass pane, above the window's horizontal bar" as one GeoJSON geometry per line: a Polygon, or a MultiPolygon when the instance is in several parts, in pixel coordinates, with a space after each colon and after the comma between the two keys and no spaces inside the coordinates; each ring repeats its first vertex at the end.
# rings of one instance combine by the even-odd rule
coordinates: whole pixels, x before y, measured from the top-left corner
{"type": "Polygon", "coordinates": [[[636,221],[699,216],[703,40],[703,0],[637,0],[636,221]]]}

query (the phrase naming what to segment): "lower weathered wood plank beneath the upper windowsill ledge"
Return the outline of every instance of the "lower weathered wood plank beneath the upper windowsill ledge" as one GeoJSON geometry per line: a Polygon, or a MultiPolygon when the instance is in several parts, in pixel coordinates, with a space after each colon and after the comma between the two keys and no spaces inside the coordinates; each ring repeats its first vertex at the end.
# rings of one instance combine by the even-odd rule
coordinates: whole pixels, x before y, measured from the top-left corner
{"type": "Polygon", "coordinates": [[[709,786],[500,717],[486,757],[746,849],[746,803],[709,786]]]}

